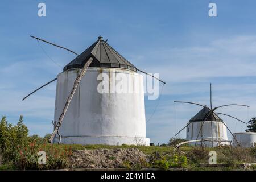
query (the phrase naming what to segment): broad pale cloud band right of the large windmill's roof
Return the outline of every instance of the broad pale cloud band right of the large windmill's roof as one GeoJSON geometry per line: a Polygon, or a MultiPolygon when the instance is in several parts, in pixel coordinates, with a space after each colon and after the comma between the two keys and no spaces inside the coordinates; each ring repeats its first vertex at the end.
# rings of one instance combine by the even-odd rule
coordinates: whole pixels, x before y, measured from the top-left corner
{"type": "Polygon", "coordinates": [[[256,76],[255,50],[256,36],[237,36],[214,40],[207,46],[160,47],[142,53],[146,56],[131,57],[145,71],[159,72],[164,81],[184,82],[205,77],[256,76]]]}

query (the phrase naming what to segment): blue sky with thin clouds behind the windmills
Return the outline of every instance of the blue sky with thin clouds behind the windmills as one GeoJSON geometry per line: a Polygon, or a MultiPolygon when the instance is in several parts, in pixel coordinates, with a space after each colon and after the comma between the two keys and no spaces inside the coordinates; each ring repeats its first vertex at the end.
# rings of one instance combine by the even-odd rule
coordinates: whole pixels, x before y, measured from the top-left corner
{"type": "MultiPolygon", "coordinates": [[[[147,123],[151,142],[167,143],[200,110],[173,101],[209,105],[210,82],[213,106],[250,105],[249,109],[219,110],[247,121],[256,115],[255,5],[255,1],[228,0],[1,1],[0,115],[11,123],[23,115],[30,134],[51,133],[56,83],[21,100],[55,78],[63,70],[59,65],[75,56],[42,43],[57,65],[29,35],[79,53],[102,35],[136,67],[159,73],[167,82],[158,109],[147,123]],[[38,16],[40,2],[46,3],[46,17],[38,16]],[[217,17],[208,16],[210,2],[217,4],[217,17]]],[[[146,119],[157,102],[146,99],[146,119]]],[[[233,132],[246,129],[240,122],[222,118],[233,132]]]]}

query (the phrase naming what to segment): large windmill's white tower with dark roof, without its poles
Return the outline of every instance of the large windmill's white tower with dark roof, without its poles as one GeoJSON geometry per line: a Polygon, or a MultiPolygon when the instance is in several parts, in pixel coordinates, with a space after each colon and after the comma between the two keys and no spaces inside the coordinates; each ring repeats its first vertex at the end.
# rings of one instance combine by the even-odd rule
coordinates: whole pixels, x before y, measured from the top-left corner
{"type": "MultiPolygon", "coordinates": [[[[102,37],[57,76],[55,121],[82,67],[93,57],[60,126],[65,144],[144,144],[146,122],[143,77],[102,37]]],[[[56,135],[54,142],[58,142],[56,135]]]]}

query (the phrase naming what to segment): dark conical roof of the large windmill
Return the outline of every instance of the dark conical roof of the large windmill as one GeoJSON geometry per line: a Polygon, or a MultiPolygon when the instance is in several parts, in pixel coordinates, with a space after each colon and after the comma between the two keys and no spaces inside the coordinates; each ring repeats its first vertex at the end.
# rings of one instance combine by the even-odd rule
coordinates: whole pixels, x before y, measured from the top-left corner
{"type": "Polygon", "coordinates": [[[63,71],[67,71],[68,69],[72,68],[84,67],[86,61],[91,56],[93,57],[93,61],[89,67],[124,68],[137,72],[137,69],[133,64],[131,64],[111,46],[109,46],[106,41],[102,40],[102,36],[99,36],[98,40],[93,43],[92,46],[87,48],[73,61],[67,64],[63,71]]]}

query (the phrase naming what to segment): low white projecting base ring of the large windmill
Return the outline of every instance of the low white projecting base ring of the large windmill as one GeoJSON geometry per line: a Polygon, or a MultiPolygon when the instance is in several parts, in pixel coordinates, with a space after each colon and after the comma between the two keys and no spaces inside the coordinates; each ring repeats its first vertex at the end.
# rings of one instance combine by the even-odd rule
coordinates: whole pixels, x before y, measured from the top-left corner
{"type": "MultiPolygon", "coordinates": [[[[58,143],[59,137],[55,137],[53,143],[58,143]]],[[[77,137],[61,137],[61,143],[63,144],[107,144],[117,145],[122,144],[137,145],[137,146],[149,146],[150,139],[146,137],[89,137],[89,136],[77,136],[77,137]]]]}

